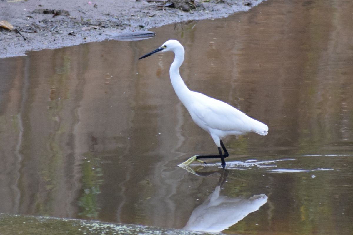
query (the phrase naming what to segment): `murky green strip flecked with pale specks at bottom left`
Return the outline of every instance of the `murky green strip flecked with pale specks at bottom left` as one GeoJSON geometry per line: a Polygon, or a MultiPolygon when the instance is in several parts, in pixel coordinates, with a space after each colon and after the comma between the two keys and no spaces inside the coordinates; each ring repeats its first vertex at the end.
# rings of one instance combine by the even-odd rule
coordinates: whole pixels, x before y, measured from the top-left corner
{"type": "Polygon", "coordinates": [[[0,214],[1,235],[201,235],[211,234],[179,229],[164,229],[133,224],[103,223],[80,219],[0,214]]]}

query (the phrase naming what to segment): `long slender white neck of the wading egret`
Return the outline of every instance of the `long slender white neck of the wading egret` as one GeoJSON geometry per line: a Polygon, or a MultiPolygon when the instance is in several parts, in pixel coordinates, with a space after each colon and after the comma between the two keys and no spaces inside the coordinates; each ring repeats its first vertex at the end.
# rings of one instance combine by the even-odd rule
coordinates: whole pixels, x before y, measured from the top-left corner
{"type": "Polygon", "coordinates": [[[183,47],[178,48],[177,50],[174,51],[174,54],[175,54],[175,58],[169,69],[170,81],[172,81],[174,91],[175,93],[177,93],[181,103],[183,103],[186,106],[187,100],[189,100],[188,97],[190,94],[190,90],[185,85],[183,79],[181,79],[181,76],[179,73],[179,67],[184,61],[184,48],[183,47]]]}

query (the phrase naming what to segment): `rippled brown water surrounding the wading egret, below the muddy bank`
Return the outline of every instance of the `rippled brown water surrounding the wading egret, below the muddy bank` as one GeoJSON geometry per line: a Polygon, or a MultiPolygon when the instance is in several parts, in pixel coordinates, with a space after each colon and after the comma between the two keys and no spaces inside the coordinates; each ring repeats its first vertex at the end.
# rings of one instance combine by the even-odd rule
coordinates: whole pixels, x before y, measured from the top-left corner
{"type": "Polygon", "coordinates": [[[0,212],[352,234],[352,19],[348,0],[270,0],[144,41],[0,60],[0,212]],[[192,166],[198,175],[177,166],[217,148],[173,91],[172,53],[138,60],[169,38],[185,47],[190,89],[269,126],[224,141],[225,172],[218,161],[192,166]]]}

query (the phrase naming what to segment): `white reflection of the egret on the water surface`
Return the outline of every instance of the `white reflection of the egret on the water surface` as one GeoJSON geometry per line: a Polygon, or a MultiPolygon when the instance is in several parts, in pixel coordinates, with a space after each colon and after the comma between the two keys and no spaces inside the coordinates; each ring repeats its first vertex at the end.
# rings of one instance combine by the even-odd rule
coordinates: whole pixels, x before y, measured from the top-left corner
{"type": "Polygon", "coordinates": [[[221,188],[226,182],[228,171],[220,169],[213,172],[198,172],[191,167],[187,169],[199,176],[211,175],[220,173],[221,177],[213,193],[205,200],[204,203],[197,206],[187,221],[184,229],[193,231],[204,231],[219,233],[231,227],[251,212],[257,211],[260,206],[267,202],[265,194],[255,195],[249,199],[244,197],[230,198],[220,195],[221,188]]]}

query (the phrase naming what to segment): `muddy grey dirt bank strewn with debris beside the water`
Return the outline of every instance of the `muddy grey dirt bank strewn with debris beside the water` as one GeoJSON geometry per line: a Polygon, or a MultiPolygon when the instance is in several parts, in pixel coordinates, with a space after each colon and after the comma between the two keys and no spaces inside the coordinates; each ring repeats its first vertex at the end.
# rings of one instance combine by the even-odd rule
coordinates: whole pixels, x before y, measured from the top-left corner
{"type": "Polygon", "coordinates": [[[263,0],[0,0],[0,58],[28,50],[103,41],[119,33],[187,20],[221,18],[263,0]],[[187,3],[185,3],[187,2],[187,3]]]}

